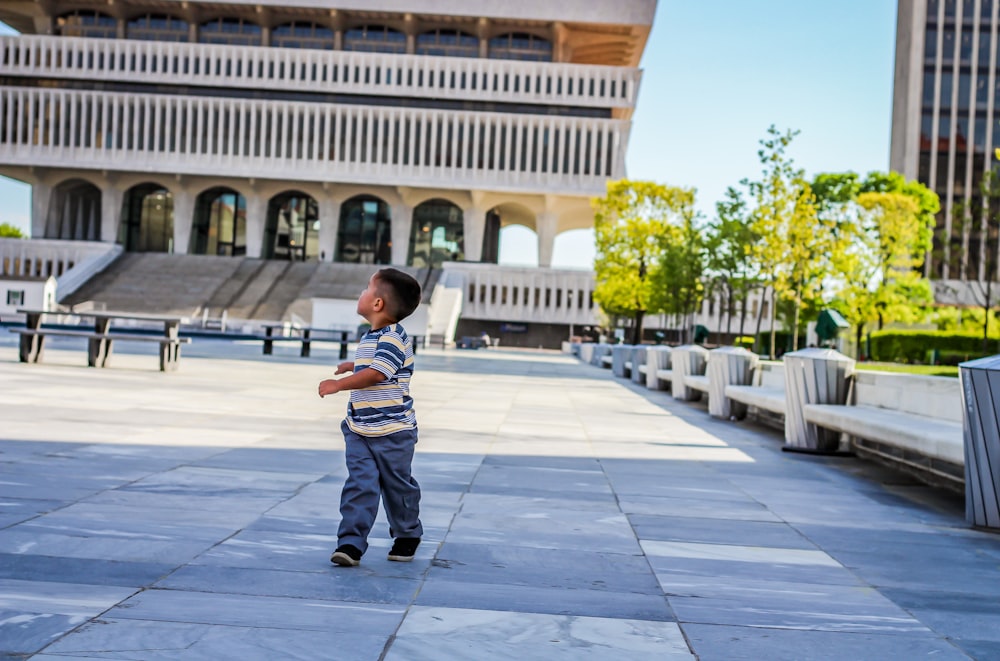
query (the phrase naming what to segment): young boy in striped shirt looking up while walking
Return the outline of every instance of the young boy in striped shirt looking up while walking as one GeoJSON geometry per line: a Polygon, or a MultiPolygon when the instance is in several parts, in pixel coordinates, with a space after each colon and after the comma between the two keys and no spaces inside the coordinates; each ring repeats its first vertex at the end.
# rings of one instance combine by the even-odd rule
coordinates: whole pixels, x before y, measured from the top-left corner
{"type": "Polygon", "coordinates": [[[371,330],[358,342],[354,362],[337,366],[319,384],[319,396],[351,391],[341,423],[347,446],[347,481],[340,496],[337,550],[330,562],[356,567],[368,549],[368,533],[379,496],[395,538],[389,560],[409,562],[420,545],[420,486],[410,475],[417,443],[417,420],[410,397],[413,343],[399,325],[420,304],[420,284],[397,269],[384,268],[358,298],[358,314],[371,330]]]}

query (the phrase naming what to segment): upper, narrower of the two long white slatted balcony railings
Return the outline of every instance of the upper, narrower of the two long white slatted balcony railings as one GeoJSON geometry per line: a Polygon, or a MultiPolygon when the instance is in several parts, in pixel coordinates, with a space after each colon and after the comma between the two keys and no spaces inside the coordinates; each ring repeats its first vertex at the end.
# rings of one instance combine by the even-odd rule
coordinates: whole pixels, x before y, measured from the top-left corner
{"type": "Polygon", "coordinates": [[[8,76],[634,108],[641,71],[485,58],[82,37],[0,38],[8,76]]]}

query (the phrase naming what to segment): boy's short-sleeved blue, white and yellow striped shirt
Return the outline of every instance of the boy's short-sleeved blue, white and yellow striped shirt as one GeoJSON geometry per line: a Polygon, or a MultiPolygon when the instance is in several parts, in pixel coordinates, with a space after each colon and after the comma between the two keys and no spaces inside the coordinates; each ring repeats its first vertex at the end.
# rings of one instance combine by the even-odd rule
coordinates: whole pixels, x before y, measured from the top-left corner
{"type": "Polygon", "coordinates": [[[417,416],[410,397],[413,342],[399,324],[370,330],[358,342],[354,372],[378,370],[385,381],[351,391],[347,426],[361,436],[385,436],[415,429],[417,416]]]}

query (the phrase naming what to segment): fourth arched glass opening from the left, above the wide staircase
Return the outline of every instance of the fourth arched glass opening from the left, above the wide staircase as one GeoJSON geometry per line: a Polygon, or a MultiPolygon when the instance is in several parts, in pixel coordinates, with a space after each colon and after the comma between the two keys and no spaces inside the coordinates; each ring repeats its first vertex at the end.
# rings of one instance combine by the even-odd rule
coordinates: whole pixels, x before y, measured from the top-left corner
{"type": "Polygon", "coordinates": [[[308,261],[319,254],[319,203],[299,191],[275,195],[267,203],[264,259],[308,261]]]}

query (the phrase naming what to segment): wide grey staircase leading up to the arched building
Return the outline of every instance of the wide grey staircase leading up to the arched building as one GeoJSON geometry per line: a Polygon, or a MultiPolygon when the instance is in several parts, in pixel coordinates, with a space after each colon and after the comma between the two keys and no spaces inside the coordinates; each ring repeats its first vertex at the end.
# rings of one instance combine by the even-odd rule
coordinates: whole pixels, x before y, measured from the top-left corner
{"type": "MultiPolygon", "coordinates": [[[[74,294],[74,307],[177,314],[192,321],[290,321],[308,325],[313,298],[353,300],[372,264],[289,262],[206,255],[126,253],[74,294]]],[[[430,301],[440,271],[403,267],[430,301]]]]}

